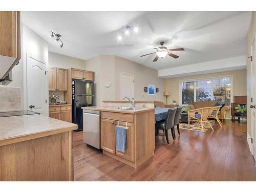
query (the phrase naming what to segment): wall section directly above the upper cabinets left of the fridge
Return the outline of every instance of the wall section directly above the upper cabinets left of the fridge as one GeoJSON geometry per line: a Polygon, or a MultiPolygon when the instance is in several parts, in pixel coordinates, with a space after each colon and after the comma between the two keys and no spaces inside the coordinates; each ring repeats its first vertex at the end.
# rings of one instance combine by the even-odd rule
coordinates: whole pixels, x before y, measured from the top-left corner
{"type": "Polygon", "coordinates": [[[61,55],[58,53],[49,51],[49,66],[58,68],[77,68],[86,69],[86,60],[78,59],[75,57],[70,57],[66,55],[61,55]]]}

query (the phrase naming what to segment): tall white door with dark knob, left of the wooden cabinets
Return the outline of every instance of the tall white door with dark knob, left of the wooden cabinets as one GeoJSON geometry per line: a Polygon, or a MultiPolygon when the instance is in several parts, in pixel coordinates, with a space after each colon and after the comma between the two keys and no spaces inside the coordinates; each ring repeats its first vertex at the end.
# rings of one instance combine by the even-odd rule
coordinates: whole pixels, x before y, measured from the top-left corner
{"type": "Polygon", "coordinates": [[[28,110],[48,116],[46,64],[27,55],[28,110]]]}

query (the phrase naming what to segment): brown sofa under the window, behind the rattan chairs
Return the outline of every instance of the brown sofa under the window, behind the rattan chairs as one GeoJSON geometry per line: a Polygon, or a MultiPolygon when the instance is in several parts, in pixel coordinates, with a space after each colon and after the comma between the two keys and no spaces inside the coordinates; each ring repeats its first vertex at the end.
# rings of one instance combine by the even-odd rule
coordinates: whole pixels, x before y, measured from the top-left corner
{"type": "MultiPolygon", "coordinates": [[[[192,104],[189,105],[191,110],[199,109],[199,108],[206,108],[208,106],[212,107],[215,106],[216,103],[224,104],[219,101],[197,101],[193,102],[192,104]]],[[[221,111],[218,114],[219,119],[224,120],[226,117],[227,111],[230,109],[230,106],[225,105],[221,108],[221,111]]]]}

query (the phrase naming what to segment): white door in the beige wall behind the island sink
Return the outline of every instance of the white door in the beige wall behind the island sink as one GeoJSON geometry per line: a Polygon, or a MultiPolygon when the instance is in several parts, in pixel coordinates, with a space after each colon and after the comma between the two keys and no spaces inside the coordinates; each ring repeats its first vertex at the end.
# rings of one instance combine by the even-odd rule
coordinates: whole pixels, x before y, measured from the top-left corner
{"type": "Polygon", "coordinates": [[[120,73],[119,98],[134,98],[134,76],[120,73]]]}

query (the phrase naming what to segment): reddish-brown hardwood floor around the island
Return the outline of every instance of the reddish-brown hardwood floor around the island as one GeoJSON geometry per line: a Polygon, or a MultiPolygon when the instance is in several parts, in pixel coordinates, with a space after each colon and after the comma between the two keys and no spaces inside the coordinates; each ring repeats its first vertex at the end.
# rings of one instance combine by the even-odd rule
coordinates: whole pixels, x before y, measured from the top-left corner
{"type": "MultiPolygon", "coordinates": [[[[173,141],[159,131],[155,157],[137,169],[82,142],[74,133],[75,181],[256,181],[255,162],[242,123],[226,120],[215,131],[181,130],[173,141]]],[[[169,131],[170,132],[170,131],[169,131]]],[[[170,133],[169,133],[170,134],[170,133]]]]}

